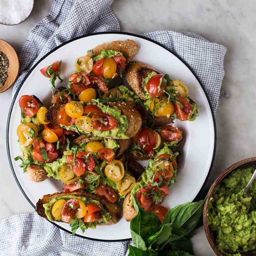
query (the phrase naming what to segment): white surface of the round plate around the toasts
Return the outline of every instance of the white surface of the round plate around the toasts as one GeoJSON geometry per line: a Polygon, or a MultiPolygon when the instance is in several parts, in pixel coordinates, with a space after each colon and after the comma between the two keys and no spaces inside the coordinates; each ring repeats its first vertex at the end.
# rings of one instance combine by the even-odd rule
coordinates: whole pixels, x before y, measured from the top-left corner
{"type": "MultiPolygon", "coordinates": [[[[18,186],[33,207],[43,195],[61,191],[62,183],[52,178],[34,183],[27,178],[26,174],[23,174],[23,170],[18,166],[19,161],[14,161],[14,157],[21,154],[16,135],[16,128],[20,124],[18,99],[24,94],[34,94],[44,105],[49,106],[51,85],[40,73],[41,68],[61,59],[61,77],[65,79],[63,82],[65,85],[70,73],[73,72],[73,63],[77,57],[85,55],[88,49],[98,44],[125,39],[132,39],[140,46],[134,60],[148,63],[162,73],[168,73],[171,77],[185,82],[189,87],[190,97],[200,108],[200,114],[194,122],[175,121],[175,124],[185,134],[185,143],[180,157],[177,183],[171,186],[170,195],[165,198],[164,206],[171,208],[177,204],[192,201],[204,185],[215,154],[216,132],[214,115],[199,80],[182,60],[153,41],[127,33],[100,33],[77,38],[49,52],[31,69],[13,100],[7,122],[6,143],[9,162],[18,186]]],[[[57,86],[59,85],[57,84],[57,86]]],[[[145,161],[143,164],[146,165],[145,161]]],[[[56,222],[56,225],[70,231],[69,225],[66,223],[56,222]]],[[[77,234],[105,241],[125,240],[131,237],[130,223],[122,218],[115,225],[88,229],[84,234],[77,231],[77,234]]]]}

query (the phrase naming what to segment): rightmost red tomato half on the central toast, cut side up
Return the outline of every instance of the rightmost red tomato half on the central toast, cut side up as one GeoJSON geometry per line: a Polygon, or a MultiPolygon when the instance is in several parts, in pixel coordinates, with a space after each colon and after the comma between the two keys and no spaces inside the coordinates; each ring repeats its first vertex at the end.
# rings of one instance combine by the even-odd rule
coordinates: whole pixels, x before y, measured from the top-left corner
{"type": "Polygon", "coordinates": [[[94,114],[91,118],[92,127],[97,131],[109,131],[117,126],[114,116],[106,113],[94,114]],[[102,122],[101,122],[102,120],[102,122]]]}

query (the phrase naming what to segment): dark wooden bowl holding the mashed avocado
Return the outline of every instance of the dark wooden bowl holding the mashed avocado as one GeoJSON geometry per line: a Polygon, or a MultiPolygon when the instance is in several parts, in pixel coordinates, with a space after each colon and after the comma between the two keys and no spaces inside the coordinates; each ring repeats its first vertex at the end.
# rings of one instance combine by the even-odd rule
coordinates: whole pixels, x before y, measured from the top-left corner
{"type": "MultiPolygon", "coordinates": [[[[218,250],[217,244],[215,243],[215,234],[210,231],[210,229],[208,227],[208,223],[207,223],[209,201],[212,197],[213,192],[215,191],[216,187],[219,185],[221,180],[224,179],[230,172],[232,172],[238,168],[248,168],[248,167],[252,167],[252,166],[256,166],[256,157],[247,158],[247,159],[244,159],[240,162],[237,162],[237,163],[231,165],[221,175],[219,175],[217,179],[215,179],[214,183],[212,184],[212,186],[210,187],[210,189],[208,191],[207,199],[206,199],[205,206],[204,206],[204,212],[203,212],[204,229],[205,229],[205,233],[206,233],[208,242],[210,243],[210,246],[212,247],[213,251],[218,256],[222,256],[223,254],[218,250]]],[[[241,254],[249,256],[249,255],[256,255],[256,252],[250,251],[250,252],[244,252],[241,254]]]]}

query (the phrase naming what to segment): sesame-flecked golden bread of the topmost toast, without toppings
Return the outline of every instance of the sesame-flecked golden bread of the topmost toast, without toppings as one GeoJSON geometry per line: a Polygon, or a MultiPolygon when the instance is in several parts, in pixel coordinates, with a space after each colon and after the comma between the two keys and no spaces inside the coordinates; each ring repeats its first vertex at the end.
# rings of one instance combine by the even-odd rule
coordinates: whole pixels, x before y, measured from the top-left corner
{"type": "Polygon", "coordinates": [[[104,43],[94,47],[86,56],[96,57],[97,55],[101,54],[103,49],[121,51],[125,57],[125,64],[127,65],[137,53],[138,45],[135,41],[130,39],[124,41],[112,41],[110,43],[104,43]]]}

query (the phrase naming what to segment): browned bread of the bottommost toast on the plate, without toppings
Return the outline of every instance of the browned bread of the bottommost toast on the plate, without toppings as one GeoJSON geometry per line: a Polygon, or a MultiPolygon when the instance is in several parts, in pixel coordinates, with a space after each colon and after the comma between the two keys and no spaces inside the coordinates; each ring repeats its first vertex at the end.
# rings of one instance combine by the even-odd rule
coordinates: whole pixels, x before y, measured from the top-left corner
{"type": "Polygon", "coordinates": [[[105,197],[99,197],[97,195],[92,195],[92,194],[89,194],[86,192],[80,192],[80,191],[72,192],[72,193],[58,192],[58,193],[54,193],[54,194],[44,195],[43,198],[39,199],[36,204],[36,212],[41,217],[47,219],[43,204],[47,204],[48,202],[50,202],[51,199],[55,198],[56,196],[66,196],[66,195],[83,196],[86,198],[91,198],[93,200],[100,201],[100,203],[104,206],[106,211],[109,212],[112,216],[108,223],[103,223],[100,225],[112,225],[112,224],[117,223],[121,219],[122,211],[120,210],[120,208],[118,206],[116,206],[115,204],[110,203],[108,200],[105,199],[105,197]]]}

